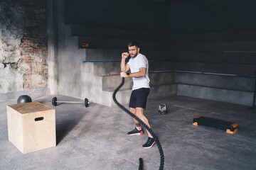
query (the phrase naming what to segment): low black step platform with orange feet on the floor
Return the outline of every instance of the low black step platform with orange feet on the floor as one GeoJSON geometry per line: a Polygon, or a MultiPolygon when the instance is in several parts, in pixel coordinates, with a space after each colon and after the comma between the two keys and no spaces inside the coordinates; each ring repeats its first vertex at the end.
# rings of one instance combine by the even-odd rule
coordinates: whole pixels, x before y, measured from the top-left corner
{"type": "Polygon", "coordinates": [[[231,123],[225,120],[198,116],[193,118],[193,125],[206,125],[213,128],[225,130],[228,133],[238,132],[238,123],[231,123]]]}

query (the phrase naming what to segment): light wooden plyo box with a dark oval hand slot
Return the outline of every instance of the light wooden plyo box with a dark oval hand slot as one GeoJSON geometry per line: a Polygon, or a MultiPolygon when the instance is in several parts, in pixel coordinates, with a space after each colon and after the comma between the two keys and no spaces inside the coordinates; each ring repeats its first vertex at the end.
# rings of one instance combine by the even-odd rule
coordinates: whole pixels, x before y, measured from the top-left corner
{"type": "Polygon", "coordinates": [[[56,146],[55,109],[38,102],[7,106],[9,141],[23,154],[56,146]]]}

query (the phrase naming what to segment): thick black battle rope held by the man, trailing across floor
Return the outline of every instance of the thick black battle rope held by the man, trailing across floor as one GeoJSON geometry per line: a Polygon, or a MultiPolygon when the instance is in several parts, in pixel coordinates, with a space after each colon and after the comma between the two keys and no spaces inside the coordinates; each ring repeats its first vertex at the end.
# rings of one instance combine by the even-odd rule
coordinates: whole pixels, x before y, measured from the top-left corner
{"type": "MultiPolygon", "coordinates": [[[[119,91],[119,89],[124,85],[124,77],[122,78],[122,83],[117,87],[117,89],[114,90],[114,94],[113,94],[113,100],[114,103],[117,104],[117,106],[119,106],[119,108],[121,108],[123,111],[125,111],[126,113],[128,113],[130,116],[132,116],[132,118],[136,119],[141,125],[144,126],[144,128],[146,128],[146,130],[149,131],[149,133],[152,135],[152,137],[154,138],[154,140],[156,141],[156,145],[159,149],[159,154],[160,154],[160,166],[159,166],[159,170],[164,169],[164,152],[163,149],[161,148],[161,144],[158,140],[158,138],[156,137],[156,135],[154,135],[154,132],[142,121],[140,120],[136,115],[132,114],[130,111],[127,110],[127,108],[124,108],[124,106],[122,106],[120,103],[118,103],[117,99],[115,98],[117,91],[119,91]]],[[[139,159],[139,162],[142,162],[142,159],[139,159]]],[[[141,166],[141,165],[140,165],[141,166]]]]}

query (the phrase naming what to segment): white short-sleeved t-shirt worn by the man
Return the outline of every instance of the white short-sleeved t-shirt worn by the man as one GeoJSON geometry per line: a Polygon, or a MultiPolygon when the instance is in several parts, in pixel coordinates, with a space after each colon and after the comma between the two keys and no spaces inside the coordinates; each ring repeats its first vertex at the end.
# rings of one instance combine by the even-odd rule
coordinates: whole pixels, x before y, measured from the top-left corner
{"type": "Polygon", "coordinates": [[[132,77],[133,86],[132,90],[140,89],[140,88],[150,88],[149,86],[149,62],[146,59],[146,56],[139,54],[137,57],[131,57],[129,62],[131,73],[139,72],[139,68],[144,67],[146,68],[146,75],[144,77],[132,77]]]}

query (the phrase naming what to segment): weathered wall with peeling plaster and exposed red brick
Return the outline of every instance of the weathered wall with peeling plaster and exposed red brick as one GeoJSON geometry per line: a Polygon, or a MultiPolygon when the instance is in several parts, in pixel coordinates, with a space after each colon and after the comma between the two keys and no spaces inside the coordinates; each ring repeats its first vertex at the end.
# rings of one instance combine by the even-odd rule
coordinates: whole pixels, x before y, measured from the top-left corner
{"type": "Polygon", "coordinates": [[[47,1],[3,0],[0,12],[0,94],[46,88],[47,1]]]}

